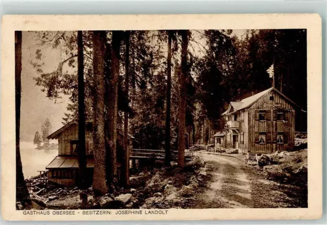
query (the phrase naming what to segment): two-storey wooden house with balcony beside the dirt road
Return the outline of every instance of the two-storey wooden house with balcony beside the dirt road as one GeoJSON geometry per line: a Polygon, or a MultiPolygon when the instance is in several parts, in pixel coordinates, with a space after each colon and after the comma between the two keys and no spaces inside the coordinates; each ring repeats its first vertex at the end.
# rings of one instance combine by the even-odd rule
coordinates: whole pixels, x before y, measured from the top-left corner
{"type": "Polygon", "coordinates": [[[300,107],[274,87],[230,102],[222,114],[228,128],[215,134],[215,147],[243,153],[292,149],[296,108],[300,107]]]}

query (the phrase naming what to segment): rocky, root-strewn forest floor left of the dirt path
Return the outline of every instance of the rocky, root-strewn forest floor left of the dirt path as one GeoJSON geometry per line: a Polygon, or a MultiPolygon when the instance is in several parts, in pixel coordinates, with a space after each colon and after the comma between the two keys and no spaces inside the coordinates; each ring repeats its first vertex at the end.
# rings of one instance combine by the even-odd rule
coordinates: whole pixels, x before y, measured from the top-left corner
{"type": "MultiPolygon", "coordinates": [[[[204,161],[196,157],[184,168],[173,163],[165,167],[156,163],[147,171],[134,171],[128,188],[115,187],[111,194],[94,196],[92,187],[87,190],[55,187],[46,191],[39,188],[30,191],[31,206],[16,202],[22,209],[181,209],[193,208],[197,193],[203,192],[209,178],[204,161]]],[[[38,179],[30,181],[38,184],[38,179]]]]}

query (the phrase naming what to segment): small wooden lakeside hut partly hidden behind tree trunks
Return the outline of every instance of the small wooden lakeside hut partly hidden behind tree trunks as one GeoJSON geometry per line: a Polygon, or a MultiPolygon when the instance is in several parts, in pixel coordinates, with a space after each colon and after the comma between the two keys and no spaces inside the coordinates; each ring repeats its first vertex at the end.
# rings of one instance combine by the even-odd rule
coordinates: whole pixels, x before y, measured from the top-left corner
{"type": "MultiPolygon", "coordinates": [[[[117,161],[122,161],[123,153],[123,132],[117,129],[118,146],[117,161]]],[[[71,121],[56,130],[48,139],[58,139],[58,156],[46,166],[48,170],[48,179],[51,182],[63,185],[65,187],[75,187],[78,178],[79,164],[77,160],[78,151],[78,122],[71,121]]],[[[133,139],[129,135],[128,140],[133,139]]],[[[92,183],[94,171],[94,145],[92,137],[92,122],[86,122],[85,130],[85,150],[86,150],[86,178],[87,183],[92,183]]],[[[119,165],[118,165],[119,166],[119,165]]]]}

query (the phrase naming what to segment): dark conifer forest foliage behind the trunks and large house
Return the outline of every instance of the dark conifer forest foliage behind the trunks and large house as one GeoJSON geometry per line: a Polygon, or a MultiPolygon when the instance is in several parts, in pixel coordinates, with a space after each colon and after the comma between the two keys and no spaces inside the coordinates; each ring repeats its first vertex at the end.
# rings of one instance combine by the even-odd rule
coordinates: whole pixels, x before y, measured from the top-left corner
{"type": "MultiPolygon", "coordinates": [[[[104,73],[110,76],[113,41],[107,32],[104,73]],[[110,50],[110,51],[109,51],[110,50]]],[[[126,95],[126,41],[120,38],[120,76],[118,87],[119,124],[129,114],[129,132],[138,141],[136,147],[165,147],[167,88],[171,93],[171,147],[177,148],[181,76],[182,38],[179,31],[129,32],[129,94],[126,95]],[[171,58],[168,58],[168,48],[171,58]],[[168,61],[171,84],[167,85],[168,61]]],[[[52,73],[42,72],[42,48],[32,62],[37,72],[36,85],[50,99],[68,95],[70,113],[63,123],[78,118],[77,32],[38,32],[42,48],[60,48],[67,59],[52,73]],[[64,72],[64,68],[68,69],[64,72]],[[71,68],[71,69],[69,69],[71,68]]],[[[83,31],[85,114],[92,118],[94,96],[92,68],[92,31],[83,31]]],[[[272,79],[266,70],[274,64],[275,87],[307,110],[307,32],[290,30],[246,30],[242,37],[231,30],[191,30],[188,32],[186,82],[186,131],[194,143],[209,142],[214,132],[224,128],[221,114],[230,101],[264,91],[272,79]],[[204,129],[204,130],[203,130],[204,129]],[[205,138],[203,138],[205,133],[205,138]]],[[[298,112],[297,115],[300,113],[298,112]]],[[[303,116],[302,116],[303,117],[303,116]]],[[[303,120],[302,120],[303,121],[303,120]]],[[[306,130],[298,120],[297,130],[306,130]]]]}

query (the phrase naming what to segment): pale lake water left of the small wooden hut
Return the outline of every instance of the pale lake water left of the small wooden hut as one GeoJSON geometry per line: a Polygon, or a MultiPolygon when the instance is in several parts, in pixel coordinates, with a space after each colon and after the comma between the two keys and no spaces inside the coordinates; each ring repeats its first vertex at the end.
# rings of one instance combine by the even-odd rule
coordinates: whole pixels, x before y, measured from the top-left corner
{"type": "Polygon", "coordinates": [[[58,155],[58,149],[35,149],[32,142],[20,143],[20,156],[24,178],[36,176],[38,170],[45,170],[45,167],[58,155]]]}

